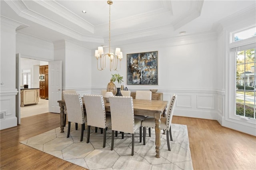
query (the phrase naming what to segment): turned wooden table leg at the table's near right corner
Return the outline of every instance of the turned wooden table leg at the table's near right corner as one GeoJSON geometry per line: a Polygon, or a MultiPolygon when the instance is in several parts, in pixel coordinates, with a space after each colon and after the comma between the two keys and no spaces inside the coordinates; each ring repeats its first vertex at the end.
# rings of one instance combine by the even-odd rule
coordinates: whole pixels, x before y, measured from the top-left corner
{"type": "Polygon", "coordinates": [[[160,158],[160,146],[161,146],[161,115],[159,113],[154,114],[155,117],[155,123],[156,123],[156,158],[160,158]]]}

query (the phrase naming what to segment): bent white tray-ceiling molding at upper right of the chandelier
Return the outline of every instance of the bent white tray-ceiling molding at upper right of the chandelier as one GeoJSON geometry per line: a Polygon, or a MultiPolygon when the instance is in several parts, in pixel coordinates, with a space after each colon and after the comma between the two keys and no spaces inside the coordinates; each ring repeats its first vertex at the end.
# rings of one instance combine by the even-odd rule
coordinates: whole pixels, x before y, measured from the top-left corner
{"type": "Polygon", "coordinates": [[[177,30],[188,22],[198,18],[201,15],[203,3],[204,0],[191,0],[190,10],[172,22],[174,30],[177,30]]]}

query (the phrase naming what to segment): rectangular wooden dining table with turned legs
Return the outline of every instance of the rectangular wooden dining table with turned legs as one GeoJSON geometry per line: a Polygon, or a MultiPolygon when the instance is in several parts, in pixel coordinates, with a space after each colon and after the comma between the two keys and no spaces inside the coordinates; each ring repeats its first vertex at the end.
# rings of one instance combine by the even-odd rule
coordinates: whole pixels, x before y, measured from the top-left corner
{"type": "MultiPolygon", "coordinates": [[[[84,100],[83,105],[84,105],[84,100]]],[[[60,106],[60,132],[64,132],[64,107],[65,101],[60,100],[58,101],[60,106]]],[[[144,115],[144,116],[152,116],[155,118],[155,133],[156,133],[156,158],[160,158],[160,146],[161,146],[161,116],[166,115],[166,107],[168,101],[158,101],[158,100],[140,100],[140,99],[133,99],[133,107],[134,107],[134,115],[144,115]]],[[[104,101],[105,110],[110,111],[110,103],[104,101]]],[[[85,105],[84,105],[85,107],[85,105]]],[[[111,112],[110,112],[111,114],[111,112]]]]}

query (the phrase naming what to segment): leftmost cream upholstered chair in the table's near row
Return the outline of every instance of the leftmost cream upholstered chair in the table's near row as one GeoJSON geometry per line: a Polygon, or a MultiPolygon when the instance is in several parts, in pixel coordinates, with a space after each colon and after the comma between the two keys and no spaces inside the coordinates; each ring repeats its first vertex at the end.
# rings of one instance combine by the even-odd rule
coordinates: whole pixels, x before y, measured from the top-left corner
{"type": "Polygon", "coordinates": [[[68,111],[67,138],[69,138],[69,135],[70,135],[71,122],[76,123],[76,130],[78,128],[78,123],[79,123],[82,125],[81,138],[80,138],[80,142],[82,142],[83,136],[84,136],[85,123],[86,123],[86,115],[84,114],[82,98],[80,97],[80,94],[75,94],[75,93],[64,93],[63,95],[66,103],[66,109],[68,111]]]}

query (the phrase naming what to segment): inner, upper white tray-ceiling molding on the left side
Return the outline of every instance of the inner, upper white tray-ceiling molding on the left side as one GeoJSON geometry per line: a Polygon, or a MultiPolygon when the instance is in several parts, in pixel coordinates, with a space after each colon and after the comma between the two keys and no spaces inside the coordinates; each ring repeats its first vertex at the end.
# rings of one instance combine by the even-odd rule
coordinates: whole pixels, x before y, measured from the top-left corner
{"type": "Polygon", "coordinates": [[[80,26],[81,28],[84,28],[88,32],[94,33],[94,26],[87,22],[86,20],[82,19],[80,16],[74,14],[74,12],[68,10],[58,2],[54,0],[35,0],[34,2],[40,4],[44,8],[47,8],[48,10],[58,14],[62,18],[67,19],[68,21],[76,24],[77,26],[80,26]]]}

